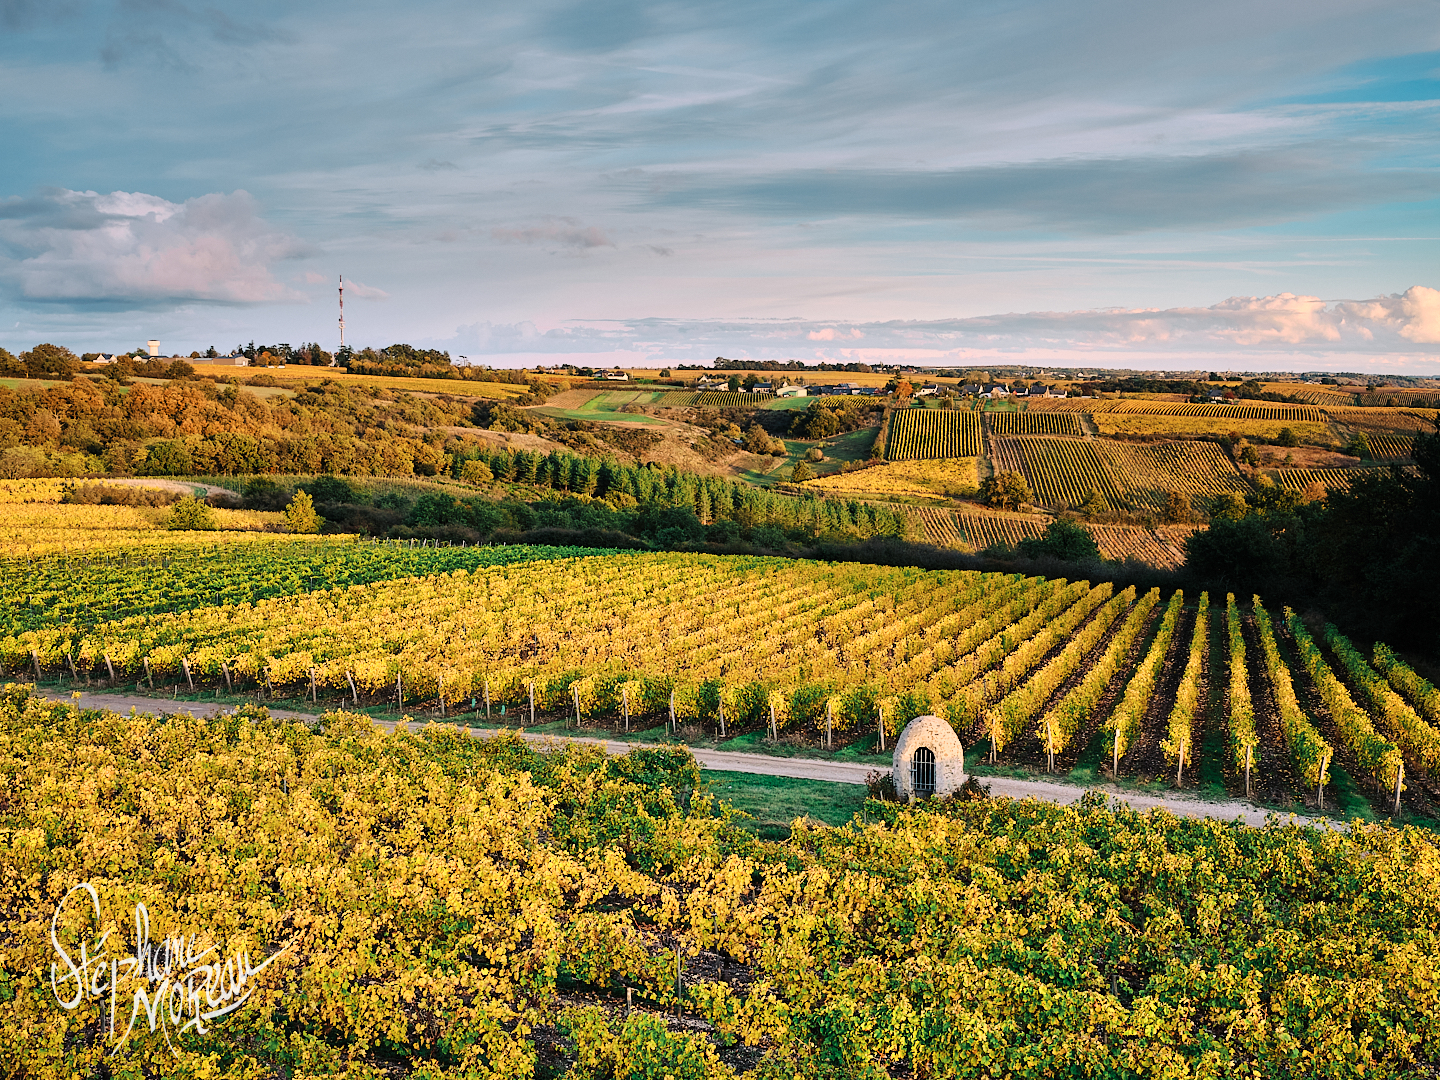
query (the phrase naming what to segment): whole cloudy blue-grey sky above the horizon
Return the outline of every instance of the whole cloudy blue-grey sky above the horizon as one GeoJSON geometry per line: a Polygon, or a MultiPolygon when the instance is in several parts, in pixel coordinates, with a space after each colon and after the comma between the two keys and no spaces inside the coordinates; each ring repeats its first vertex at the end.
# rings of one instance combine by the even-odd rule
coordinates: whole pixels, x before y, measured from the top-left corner
{"type": "Polygon", "coordinates": [[[1434,0],[0,0],[0,346],[1440,374],[1434,0]]]}

